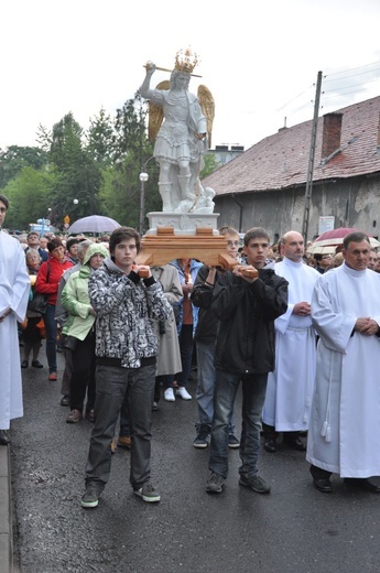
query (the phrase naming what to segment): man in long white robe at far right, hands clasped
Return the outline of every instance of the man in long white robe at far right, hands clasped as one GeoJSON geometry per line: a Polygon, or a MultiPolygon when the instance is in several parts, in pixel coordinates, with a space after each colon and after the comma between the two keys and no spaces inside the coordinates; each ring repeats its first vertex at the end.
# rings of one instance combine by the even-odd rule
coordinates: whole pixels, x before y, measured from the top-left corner
{"type": "Polygon", "coordinates": [[[306,460],[322,493],[332,491],[332,473],[380,493],[380,275],[367,269],[369,252],[365,234],[347,235],[345,262],[321,277],[312,299],[321,338],[306,460]]]}

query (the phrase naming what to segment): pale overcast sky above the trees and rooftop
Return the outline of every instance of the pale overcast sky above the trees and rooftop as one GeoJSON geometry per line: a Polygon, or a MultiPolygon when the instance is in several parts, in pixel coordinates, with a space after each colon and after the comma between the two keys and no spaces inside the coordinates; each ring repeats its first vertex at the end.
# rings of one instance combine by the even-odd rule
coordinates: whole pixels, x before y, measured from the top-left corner
{"type": "Polygon", "coordinates": [[[318,71],[321,115],[380,94],[379,0],[4,0],[0,19],[2,149],[68,111],[85,129],[101,107],[113,117],[148,60],[172,68],[188,45],[203,76],[189,88],[216,102],[213,147],[312,119],[318,71]]]}

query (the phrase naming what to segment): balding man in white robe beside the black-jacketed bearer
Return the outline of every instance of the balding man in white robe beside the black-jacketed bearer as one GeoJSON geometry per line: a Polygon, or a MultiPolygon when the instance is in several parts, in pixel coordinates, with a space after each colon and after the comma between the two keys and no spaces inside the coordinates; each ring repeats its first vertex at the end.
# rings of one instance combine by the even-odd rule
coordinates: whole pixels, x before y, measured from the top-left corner
{"type": "Polygon", "coordinates": [[[274,322],[275,370],[269,374],[262,421],[264,448],[275,452],[278,432],[290,447],[305,450],[300,431],[310,422],[316,335],[312,326],[313,289],[321,274],[303,262],[304,239],[291,230],[281,239],[283,260],[274,271],[289,282],[287,311],[274,322]]]}

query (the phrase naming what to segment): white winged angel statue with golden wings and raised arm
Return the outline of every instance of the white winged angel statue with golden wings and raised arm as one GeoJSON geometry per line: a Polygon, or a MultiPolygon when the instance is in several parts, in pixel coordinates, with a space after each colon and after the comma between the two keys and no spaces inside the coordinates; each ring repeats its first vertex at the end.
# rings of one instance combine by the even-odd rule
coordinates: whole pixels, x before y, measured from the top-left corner
{"type": "Polygon", "coordinates": [[[211,141],[214,98],[206,86],[199,86],[198,97],[188,91],[188,68],[176,67],[170,80],[151,89],[156,66],[148,62],[145,67],[140,93],[150,100],[149,139],[155,139],[153,155],[160,165],[162,210],[188,213],[196,205],[203,154],[211,141]]]}

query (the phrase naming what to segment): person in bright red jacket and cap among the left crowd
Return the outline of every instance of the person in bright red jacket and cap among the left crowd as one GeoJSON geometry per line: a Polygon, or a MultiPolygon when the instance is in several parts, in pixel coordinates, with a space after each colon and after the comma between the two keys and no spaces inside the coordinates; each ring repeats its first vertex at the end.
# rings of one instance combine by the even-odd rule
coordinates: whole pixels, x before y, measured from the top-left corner
{"type": "Polygon", "coordinates": [[[46,294],[47,307],[43,315],[46,329],[46,358],[48,363],[48,380],[57,380],[56,340],[57,323],[55,321],[55,305],[58,285],[63,273],[73,267],[65,257],[65,247],[57,237],[47,242],[48,260],[40,267],[35,281],[35,292],[46,294]]]}

